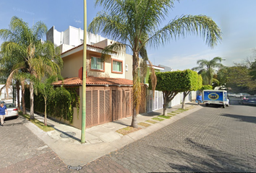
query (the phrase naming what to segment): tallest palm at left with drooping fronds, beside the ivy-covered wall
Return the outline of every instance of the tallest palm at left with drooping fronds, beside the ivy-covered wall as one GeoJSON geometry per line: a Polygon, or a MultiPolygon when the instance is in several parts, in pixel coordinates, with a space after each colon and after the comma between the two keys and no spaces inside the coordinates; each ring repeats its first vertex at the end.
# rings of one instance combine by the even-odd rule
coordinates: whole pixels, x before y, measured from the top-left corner
{"type": "MultiPolygon", "coordinates": [[[[46,74],[60,74],[62,60],[51,42],[42,43],[41,38],[47,32],[43,22],[37,22],[32,28],[18,17],[12,17],[8,29],[0,30],[0,37],[6,42],[2,43],[2,53],[6,58],[16,56],[16,64],[13,64],[12,73],[7,79],[7,84],[14,74],[22,74],[22,79],[30,81],[30,119],[34,117],[33,82],[46,74]],[[24,78],[25,77],[25,78],[24,78]]],[[[22,82],[23,83],[23,82],[22,82]]],[[[23,93],[23,92],[22,92],[23,93]]]]}

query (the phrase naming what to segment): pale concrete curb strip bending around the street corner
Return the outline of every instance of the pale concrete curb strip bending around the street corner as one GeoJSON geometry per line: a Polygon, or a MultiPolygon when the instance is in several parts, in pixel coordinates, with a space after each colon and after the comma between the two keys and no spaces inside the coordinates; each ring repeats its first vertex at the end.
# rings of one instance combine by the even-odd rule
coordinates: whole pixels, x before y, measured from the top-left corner
{"type": "Polygon", "coordinates": [[[116,151],[117,149],[122,148],[129,143],[148,136],[150,133],[164,128],[166,125],[170,125],[171,123],[174,123],[177,120],[180,120],[182,117],[186,117],[187,115],[191,114],[192,112],[196,112],[201,108],[202,107],[199,106],[193,108],[192,110],[181,112],[178,115],[171,117],[171,119],[163,120],[162,122],[150,125],[148,128],[142,128],[141,130],[129,133],[126,136],[121,136],[121,138],[115,141],[95,144],[82,144],[78,141],[74,143],[68,143],[62,140],[56,140],[48,136],[48,133],[40,130],[33,123],[27,122],[25,123],[25,126],[30,129],[36,136],[38,136],[38,138],[44,141],[64,161],[65,164],[71,166],[82,166],[100,158],[101,156],[109,154],[111,151],[116,151]]]}

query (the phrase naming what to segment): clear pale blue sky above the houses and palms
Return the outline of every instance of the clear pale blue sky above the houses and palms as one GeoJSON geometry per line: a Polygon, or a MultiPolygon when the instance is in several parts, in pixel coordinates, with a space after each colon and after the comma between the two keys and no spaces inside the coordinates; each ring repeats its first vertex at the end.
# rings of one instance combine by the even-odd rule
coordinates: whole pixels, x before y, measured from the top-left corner
{"type": "MultiPolygon", "coordinates": [[[[222,62],[225,66],[241,63],[251,57],[253,49],[256,48],[255,6],[255,0],[175,1],[174,9],[170,10],[163,25],[184,14],[203,14],[211,17],[221,28],[223,40],[214,48],[209,48],[202,37],[187,35],[158,48],[148,47],[148,57],[154,65],[161,64],[174,70],[193,68],[197,66],[198,60],[211,60],[216,56],[226,59],[222,62]]],[[[87,0],[88,25],[101,10],[101,6],[95,6],[94,0],[87,0]]],[[[83,1],[0,0],[0,29],[9,28],[13,16],[22,18],[30,27],[41,21],[48,29],[55,26],[59,32],[67,30],[69,25],[83,29],[83,1]]],[[[46,40],[46,37],[43,40],[46,40]]],[[[0,44],[3,42],[4,40],[0,39],[0,44]]]]}

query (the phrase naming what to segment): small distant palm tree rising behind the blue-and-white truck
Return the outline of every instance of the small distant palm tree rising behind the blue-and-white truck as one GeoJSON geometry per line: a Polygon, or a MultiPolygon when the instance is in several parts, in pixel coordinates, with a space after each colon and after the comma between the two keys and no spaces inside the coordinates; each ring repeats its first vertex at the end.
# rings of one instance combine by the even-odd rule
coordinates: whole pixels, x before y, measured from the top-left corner
{"type": "Polygon", "coordinates": [[[208,61],[205,59],[201,59],[197,61],[199,66],[192,68],[192,70],[199,71],[198,74],[202,75],[203,84],[207,81],[207,84],[212,85],[213,75],[215,74],[214,68],[221,68],[223,64],[221,63],[222,58],[215,57],[212,60],[208,61]]]}

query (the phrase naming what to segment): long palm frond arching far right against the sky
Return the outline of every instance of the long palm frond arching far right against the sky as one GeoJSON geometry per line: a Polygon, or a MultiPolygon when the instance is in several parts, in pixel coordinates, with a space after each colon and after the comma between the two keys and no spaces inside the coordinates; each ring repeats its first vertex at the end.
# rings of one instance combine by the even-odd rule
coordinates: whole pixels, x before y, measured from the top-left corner
{"type": "Polygon", "coordinates": [[[173,19],[165,27],[148,39],[150,45],[157,46],[170,41],[176,40],[179,37],[186,35],[200,35],[205,39],[205,43],[211,48],[221,41],[221,29],[210,17],[204,15],[184,15],[182,17],[173,19]]]}

